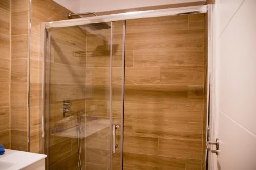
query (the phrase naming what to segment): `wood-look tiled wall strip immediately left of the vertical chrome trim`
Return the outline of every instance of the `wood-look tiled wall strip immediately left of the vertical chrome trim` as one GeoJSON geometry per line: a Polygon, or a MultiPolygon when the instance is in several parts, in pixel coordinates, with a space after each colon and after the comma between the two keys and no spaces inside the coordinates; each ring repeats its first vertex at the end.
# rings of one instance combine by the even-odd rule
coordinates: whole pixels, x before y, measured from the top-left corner
{"type": "Polygon", "coordinates": [[[11,149],[27,151],[29,1],[11,1],[11,149]]]}

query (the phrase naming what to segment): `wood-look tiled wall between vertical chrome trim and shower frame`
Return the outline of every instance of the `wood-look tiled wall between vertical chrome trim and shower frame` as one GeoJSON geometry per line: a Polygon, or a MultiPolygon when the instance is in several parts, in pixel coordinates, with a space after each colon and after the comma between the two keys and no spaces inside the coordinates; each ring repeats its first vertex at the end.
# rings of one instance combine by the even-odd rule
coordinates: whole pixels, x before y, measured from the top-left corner
{"type": "Polygon", "coordinates": [[[30,151],[42,152],[42,33],[41,22],[67,19],[70,11],[52,0],[31,1],[30,151]],[[57,11],[57,12],[56,12],[57,11]]]}

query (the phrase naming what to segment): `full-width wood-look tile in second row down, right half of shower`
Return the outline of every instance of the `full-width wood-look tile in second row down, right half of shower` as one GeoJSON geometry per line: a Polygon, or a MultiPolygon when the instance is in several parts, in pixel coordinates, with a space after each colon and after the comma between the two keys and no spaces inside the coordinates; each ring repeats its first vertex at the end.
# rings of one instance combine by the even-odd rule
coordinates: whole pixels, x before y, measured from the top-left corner
{"type": "Polygon", "coordinates": [[[127,33],[126,49],[203,47],[204,30],[175,30],[150,33],[127,33]]]}

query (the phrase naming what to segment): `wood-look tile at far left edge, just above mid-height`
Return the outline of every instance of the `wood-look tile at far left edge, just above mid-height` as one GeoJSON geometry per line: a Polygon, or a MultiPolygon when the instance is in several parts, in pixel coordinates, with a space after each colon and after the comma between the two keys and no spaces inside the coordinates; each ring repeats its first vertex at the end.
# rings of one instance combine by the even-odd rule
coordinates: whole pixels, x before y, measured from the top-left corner
{"type": "Polygon", "coordinates": [[[10,82],[10,60],[0,58],[0,82],[10,82]]]}

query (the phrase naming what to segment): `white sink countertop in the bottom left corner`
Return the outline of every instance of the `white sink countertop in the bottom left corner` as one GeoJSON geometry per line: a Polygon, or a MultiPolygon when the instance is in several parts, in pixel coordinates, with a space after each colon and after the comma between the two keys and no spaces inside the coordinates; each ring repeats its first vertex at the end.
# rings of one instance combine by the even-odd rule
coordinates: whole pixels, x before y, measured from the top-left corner
{"type": "Polygon", "coordinates": [[[44,154],[5,149],[0,155],[0,170],[45,169],[44,154]]]}

